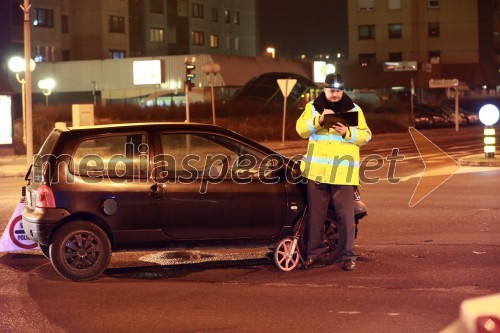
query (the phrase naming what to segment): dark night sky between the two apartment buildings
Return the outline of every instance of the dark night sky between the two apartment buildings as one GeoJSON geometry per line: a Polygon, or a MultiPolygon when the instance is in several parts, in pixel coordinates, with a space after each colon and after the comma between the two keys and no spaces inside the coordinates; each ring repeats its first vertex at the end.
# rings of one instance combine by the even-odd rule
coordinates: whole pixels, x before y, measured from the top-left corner
{"type": "Polygon", "coordinates": [[[257,0],[260,50],[277,57],[347,52],[347,0],[257,0]]]}

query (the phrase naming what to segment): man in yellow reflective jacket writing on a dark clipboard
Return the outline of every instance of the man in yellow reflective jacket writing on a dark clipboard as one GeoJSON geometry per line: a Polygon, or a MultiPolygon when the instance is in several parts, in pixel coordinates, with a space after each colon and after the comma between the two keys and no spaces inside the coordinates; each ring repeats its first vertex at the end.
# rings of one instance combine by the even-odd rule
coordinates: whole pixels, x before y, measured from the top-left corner
{"type": "MultiPolygon", "coordinates": [[[[345,114],[344,114],[345,116],[345,114]]],[[[296,123],[296,130],[309,139],[307,153],[302,159],[301,170],[308,179],[309,205],[308,244],[305,266],[318,263],[328,248],[323,242],[324,223],[330,201],[341,228],[343,246],[342,268],[356,268],[354,253],[354,185],[359,185],[359,147],[371,140],[372,134],[361,108],[344,93],[340,74],[328,74],[323,92],[306,105],[296,123]],[[342,116],[345,112],[357,112],[357,126],[327,121],[331,115],[342,116]]]]}

